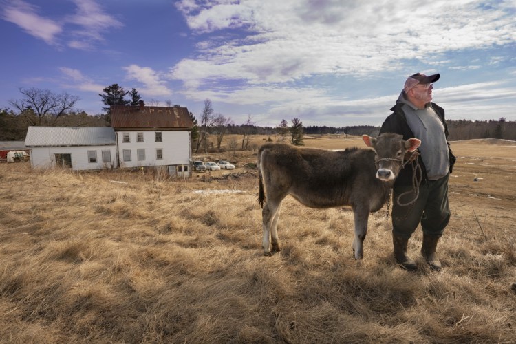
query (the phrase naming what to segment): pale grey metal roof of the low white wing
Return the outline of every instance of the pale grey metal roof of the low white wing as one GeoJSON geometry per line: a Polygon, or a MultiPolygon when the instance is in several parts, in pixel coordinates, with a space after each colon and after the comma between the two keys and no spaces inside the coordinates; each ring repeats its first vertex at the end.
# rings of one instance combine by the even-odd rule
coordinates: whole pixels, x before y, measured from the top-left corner
{"type": "Polygon", "coordinates": [[[116,144],[111,127],[29,127],[26,147],[106,146],[116,144]]]}

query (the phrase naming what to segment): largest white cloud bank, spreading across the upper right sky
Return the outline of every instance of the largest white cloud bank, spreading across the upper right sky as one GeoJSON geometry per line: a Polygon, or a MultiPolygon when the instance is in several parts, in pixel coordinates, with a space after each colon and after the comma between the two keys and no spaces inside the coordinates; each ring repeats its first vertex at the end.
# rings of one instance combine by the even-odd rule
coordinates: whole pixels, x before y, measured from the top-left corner
{"type": "Polygon", "coordinates": [[[198,56],[171,76],[197,87],[205,80],[288,83],[314,74],[367,76],[401,61],[427,61],[449,51],[516,41],[510,9],[480,1],[181,1],[194,32],[244,29],[246,36],[210,36],[198,56]]]}

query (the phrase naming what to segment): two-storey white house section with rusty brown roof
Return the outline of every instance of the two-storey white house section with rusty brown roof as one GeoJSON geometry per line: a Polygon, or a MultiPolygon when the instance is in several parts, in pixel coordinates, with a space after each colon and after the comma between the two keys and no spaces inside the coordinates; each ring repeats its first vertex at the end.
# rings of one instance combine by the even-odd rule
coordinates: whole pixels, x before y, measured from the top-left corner
{"type": "Polygon", "coordinates": [[[111,106],[118,166],[166,166],[170,175],[191,171],[192,120],[186,107],[111,106]]]}

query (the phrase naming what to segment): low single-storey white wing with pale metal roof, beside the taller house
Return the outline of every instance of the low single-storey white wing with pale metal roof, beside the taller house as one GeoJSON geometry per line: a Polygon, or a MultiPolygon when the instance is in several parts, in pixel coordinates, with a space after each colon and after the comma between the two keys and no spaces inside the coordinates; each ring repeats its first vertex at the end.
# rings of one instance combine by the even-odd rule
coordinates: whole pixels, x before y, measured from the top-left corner
{"type": "Polygon", "coordinates": [[[25,147],[32,168],[72,170],[118,167],[112,127],[29,127],[25,147]]]}

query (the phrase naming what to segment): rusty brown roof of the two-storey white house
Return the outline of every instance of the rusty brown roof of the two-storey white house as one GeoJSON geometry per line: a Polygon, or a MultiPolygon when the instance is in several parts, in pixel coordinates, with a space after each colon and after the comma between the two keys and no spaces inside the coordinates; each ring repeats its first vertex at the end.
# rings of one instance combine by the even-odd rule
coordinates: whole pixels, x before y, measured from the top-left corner
{"type": "Polygon", "coordinates": [[[191,129],[186,107],[111,105],[111,127],[115,129],[191,129]]]}

